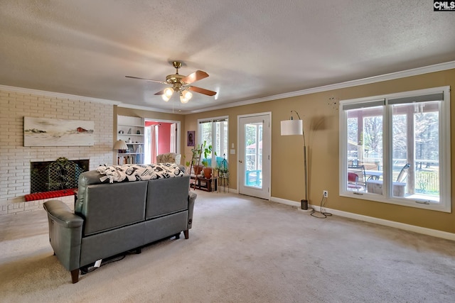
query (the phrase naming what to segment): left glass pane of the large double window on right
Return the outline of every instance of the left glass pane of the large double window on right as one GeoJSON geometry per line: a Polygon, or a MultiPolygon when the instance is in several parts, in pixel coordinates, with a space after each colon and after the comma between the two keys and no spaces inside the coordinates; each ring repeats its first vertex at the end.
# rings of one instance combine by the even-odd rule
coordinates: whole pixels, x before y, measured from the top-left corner
{"type": "Polygon", "coordinates": [[[348,110],[346,144],[349,191],[382,194],[384,106],[348,110]]]}

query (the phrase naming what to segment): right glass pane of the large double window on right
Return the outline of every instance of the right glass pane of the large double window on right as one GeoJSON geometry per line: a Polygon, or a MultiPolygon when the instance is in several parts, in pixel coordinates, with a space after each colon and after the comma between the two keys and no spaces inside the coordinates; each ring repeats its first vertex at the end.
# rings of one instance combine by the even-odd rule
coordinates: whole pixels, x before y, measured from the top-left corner
{"type": "Polygon", "coordinates": [[[392,106],[392,195],[439,202],[438,101],[392,106]]]}

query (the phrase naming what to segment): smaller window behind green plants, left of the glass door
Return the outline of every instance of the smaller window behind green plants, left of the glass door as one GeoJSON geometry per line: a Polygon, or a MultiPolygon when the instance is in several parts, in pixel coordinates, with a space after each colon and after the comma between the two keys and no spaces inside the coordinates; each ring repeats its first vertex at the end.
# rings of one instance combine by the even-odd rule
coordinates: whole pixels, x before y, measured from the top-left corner
{"type": "MultiPolygon", "coordinates": [[[[199,144],[212,145],[213,151],[208,155],[208,166],[218,167],[223,159],[228,161],[228,117],[199,120],[199,144]]],[[[205,160],[205,159],[202,159],[205,160]]]]}

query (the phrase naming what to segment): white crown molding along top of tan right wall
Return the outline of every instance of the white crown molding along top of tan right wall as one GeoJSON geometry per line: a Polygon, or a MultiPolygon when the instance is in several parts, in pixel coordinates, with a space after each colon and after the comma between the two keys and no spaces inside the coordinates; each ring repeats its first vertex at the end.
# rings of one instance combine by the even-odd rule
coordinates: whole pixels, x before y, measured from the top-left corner
{"type": "Polygon", "coordinates": [[[220,105],[220,106],[212,106],[212,107],[205,108],[205,109],[196,109],[194,111],[188,111],[186,114],[196,114],[196,113],[200,113],[203,111],[213,111],[216,109],[227,109],[230,107],[255,104],[255,103],[259,103],[259,102],[272,101],[272,100],[277,100],[277,99],[286,99],[286,98],[291,98],[291,97],[298,97],[298,96],[303,96],[306,94],[316,94],[318,92],[328,92],[328,91],[331,91],[334,89],[344,89],[347,87],[356,87],[356,86],[364,85],[364,84],[373,84],[373,83],[383,82],[383,81],[388,81],[388,80],[393,80],[393,79],[400,79],[400,78],[405,78],[405,77],[429,74],[430,72],[441,72],[443,70],[451,70],[454,68],[455,68],[455,61],[444,62],[444,63],[439,63],[437,65],[429,65],[426,67],[417,67],[417,68],[414,68],[411,70],[403,70],[400,72],[391,72],[391,73],[385,74],[385,75],[378,75],[378,76],[373,76],[373,77],[368,77],[368,78],[363,78],[363,79],[356,79],[356,80],[340,82],[340,83],[336,83],[336,84],[328,84],[328,85],[324,85],[322,87],[314,87],[311,89],[302,89],[302,90],[299,90],[296,92],[275,94],[275,95],[269,96],[269,97],[262,97],[262,98],[257,98],[257,99],[239,101],[239,102],[220,105]]]}

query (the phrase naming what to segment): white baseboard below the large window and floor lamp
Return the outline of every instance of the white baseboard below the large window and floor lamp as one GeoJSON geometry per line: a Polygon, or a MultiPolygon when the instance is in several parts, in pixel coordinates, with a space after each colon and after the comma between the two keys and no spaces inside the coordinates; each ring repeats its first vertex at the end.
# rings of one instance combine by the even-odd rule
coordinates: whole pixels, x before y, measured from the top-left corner
{"type": "MultiPolygon", "coordinates": [[[[295,201],[291,201],[291,200],[287,200],[287,199],[272,197],[271,201],[290,205],[290,206],[297,206],[297,208],[300,207],[299,202],[295,202],[295,201]]],[[[321,211],[320,206],[309,205],[309,207],[315,209],[316,211],[321,211]]],[[[434,236],[437,238],[444,238],[446,240],[455,241],[455,233],[448,233],[446,231],[437,231],[436,229],[414,226],[414,225],[410,225],[410,224],[404,224],[404,223],[389,221],[389,220],[385,220],[385,219],[378,219],[373,216],[363,216],[361,214],[353,214],[353,213],[350,213],[347,211],[339,211],[337,209],[328,209],[326,207],[323,207],[323,209],[324,209],[324,211],[329,212],[336,216],[343,216],[343,217],[349,218],[349,219],[355,219],[355,220],[359,220],[359,221],[365,221],[368,223],[399,228],[399,229],[402,229],[405,231],[413,231],[414,233],[422,233],[427,236],[434,236]]]]}

